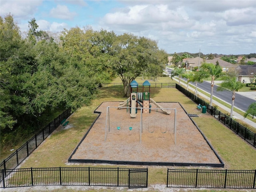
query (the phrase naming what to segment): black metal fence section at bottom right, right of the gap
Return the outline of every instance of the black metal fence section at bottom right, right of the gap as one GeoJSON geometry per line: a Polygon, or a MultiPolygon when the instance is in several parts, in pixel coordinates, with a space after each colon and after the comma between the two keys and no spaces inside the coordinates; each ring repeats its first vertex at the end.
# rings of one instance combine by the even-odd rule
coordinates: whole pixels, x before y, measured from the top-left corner
{"type": "Polygon", "coordinates": [[[168,169],[167,187],[256,188],[256,170],[168,169]]]}

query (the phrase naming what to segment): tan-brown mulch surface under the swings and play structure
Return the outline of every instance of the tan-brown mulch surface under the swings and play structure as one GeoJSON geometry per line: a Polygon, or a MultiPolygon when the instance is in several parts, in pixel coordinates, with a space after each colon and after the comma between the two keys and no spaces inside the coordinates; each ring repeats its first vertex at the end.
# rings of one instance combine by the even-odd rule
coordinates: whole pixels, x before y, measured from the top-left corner
{"type": "MultiPolygon", "coordinates": [[[[159,108],[152,109],[150,113],[142,113],[142,133],[140,134],[140,109],[137,111],[136,118],[131,118],[129,110],[109,108],[106,129],[107,107],[117,107],[119,103],[103,102],[96,109],[97,112],[102,113],[78,146],[72,159],[220,163],[179,103],[158,102],[163,108],[176,108],[176,144],[174,110],[171,110],[170,115],[163,114],[159,108]],[[119,130],[118,127],[120,127],[119,130]],[[106,142],[105,129],[107,130],[106,142]]],[[[152,108],[156,108],[153,103],[150,104],[152,108]]]]}

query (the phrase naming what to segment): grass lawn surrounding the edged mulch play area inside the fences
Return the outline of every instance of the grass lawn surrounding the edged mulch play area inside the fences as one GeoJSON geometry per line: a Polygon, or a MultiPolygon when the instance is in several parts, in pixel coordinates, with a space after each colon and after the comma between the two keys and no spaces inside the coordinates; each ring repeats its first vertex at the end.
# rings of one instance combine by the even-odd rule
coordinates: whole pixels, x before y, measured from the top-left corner
{"type": "MultiPolygon", "coordinates": [[[[170,80],[170,78],[168,78],[170,80]]],[[[136,80],[137,81],[137,80],[136,80]]],[[[172,80],[170,80],[172,81],[172,80]]],[[[139,82],[139,80],[138,80],[139,82]]],[[[196,104],[187,98],[184,94],[176,90],[176,88],[152,88],[151,98],[156,102],[180,102],[186,112],[190,114],[200,114],[200,117],[194,117],[193,120],[198,124],[204,135],[212,144],[216,152],[225,163],[224,169],[230,170],[254,170],[256,169],[256,150],[236,136],[231,130],[223,126],[209,114],[203,114],[196,109],[196,104]]],[[[84,134],[90,128],[97,114],[93,111],[104,101],[124,101],[122,88],[102,88],[98,98],[92,101],[90,106],[84,106],[70,116],[68,119],[72,128],[60,128],[54,131],[20,166],[20,168],[44,168],[44,167],[129,167],[138,168],[146,166],[125,166],[125,165],[106,165],[106,164],[68,164],[68,158],[76,148],[84,134]]],[[[177,133],[178,134],[178,133],[177,133]]],[[[191,167],[168,167],[168,168],[191,168],[191,167]]],[[[206,168],[200,168],[206,169],[206,168]]],[[[212,169],[212,168],[210,168],[212,169]]],[[[148,166],[148,184],[166,184],[167,167],[148,166]]],[[[47,186],[46,186],[47,188],[47,186]]],[[[112,192],[117,189],[91,189],[91,192],[112,192]]],[[[141,189],[140,189],[141,190],[141,189]]],[[[182,189],[180,189],[182,191],[182,189]]],[[[33,191],[33,190],[28,190],[33,191]]],[[[80,191],[77,189],[54,189],[54,192],[80,191]]],[[[83,191],[83,190],[81,190],[83,191]]],[[[130,191],[126,189],[118,189],[118,191],[130,191]]],[[[148,192],[161,190],[147,190],[148,192]]],[[[193,190],[214,192],[215,190],[193,190]]],[[[221,190],[216,190],[221,191],[221,190]]],[[[223,191],[238,191],[227,190],[223,191]]]]}

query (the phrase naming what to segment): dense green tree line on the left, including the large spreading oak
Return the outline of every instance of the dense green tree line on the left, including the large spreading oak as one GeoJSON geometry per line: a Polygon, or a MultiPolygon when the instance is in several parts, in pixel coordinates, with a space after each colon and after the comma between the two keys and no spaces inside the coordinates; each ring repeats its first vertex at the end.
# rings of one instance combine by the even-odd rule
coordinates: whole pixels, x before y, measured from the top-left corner
{"type": "Polygon", "coordinates": [[[1,146],[18,132],[32,133],[58,109],[89,105],[100,85],[117,76],[128,96],[132,80],[156,78],[168,60],[146,37],[75,27],[55,41],[37,29],[33,18],[24,38],[11,14],[0,17],[1,146]]]}

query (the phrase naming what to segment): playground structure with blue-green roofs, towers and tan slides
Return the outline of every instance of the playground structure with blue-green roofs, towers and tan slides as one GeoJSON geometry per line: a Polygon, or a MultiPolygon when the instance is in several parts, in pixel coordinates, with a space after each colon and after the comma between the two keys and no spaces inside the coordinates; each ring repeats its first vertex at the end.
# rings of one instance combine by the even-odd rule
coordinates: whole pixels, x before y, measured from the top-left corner
{"type": "Polygon", "coordinates": [[[138,83],[133,80],[130,83],[130,98],[125,100],[124,102],[121,102],[118,106],[118,109],[122,109],[124,107],[128,108],[130,107],[130,116],[131,118],[135,118],[137,114],[138,104],[140,105],[143,113],[150,113],[151,111],[151,104],[150,102],[154,103],[157,108],[160,108],[160,110],[164,113],[169,115],[171,112],[169,110],[164,109],[162,106],[160,106],[157,102],[155,102],[152,98],[150,98],[150,82],[147,80],[144,81],[142,84],[142,92],[138,92],[138,83]],[[144,86],[149,88],[148,92],[144,91],[144,86]],[[136,91],[133,90],[133,88],[136,88],[136,91]]]}

